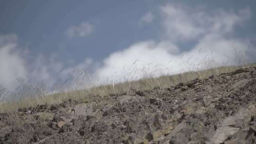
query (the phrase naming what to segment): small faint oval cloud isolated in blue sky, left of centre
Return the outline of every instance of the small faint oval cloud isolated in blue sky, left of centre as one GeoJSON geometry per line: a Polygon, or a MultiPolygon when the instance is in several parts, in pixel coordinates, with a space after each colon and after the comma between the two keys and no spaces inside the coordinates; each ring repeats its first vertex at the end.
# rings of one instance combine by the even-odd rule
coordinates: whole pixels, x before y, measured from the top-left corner
{"type": "Polygon", "coordinates": [[[65,32],[68,37],[84,37],[92,33],[92,25],[87,22],[82,22],[78,26],[71,26],[65,32]]]}

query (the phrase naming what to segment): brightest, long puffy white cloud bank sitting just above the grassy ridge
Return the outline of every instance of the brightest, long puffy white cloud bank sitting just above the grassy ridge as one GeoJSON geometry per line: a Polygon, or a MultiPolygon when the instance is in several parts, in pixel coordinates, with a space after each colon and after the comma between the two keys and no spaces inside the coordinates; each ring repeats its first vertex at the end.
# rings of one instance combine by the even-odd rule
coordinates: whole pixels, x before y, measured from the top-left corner
{"type": "MultiPolygon", "coordinates": [[[[96,72],[96,78],[100,83],[107,80],[131,81],[144,76],[156,77],[212,66],[237,64],[238,57],[233,50],[233,44],[236,44],[237,51],[245,51],[244,43],[218,36],[205,37],[192,50],[180,54],[170,52],[161,43],[140,42],[123,51],[110,54],[104,60],[104,66],[96,72]]],[[[175,45],[170,47],[174,50],[177,48],[175,45]]]]}

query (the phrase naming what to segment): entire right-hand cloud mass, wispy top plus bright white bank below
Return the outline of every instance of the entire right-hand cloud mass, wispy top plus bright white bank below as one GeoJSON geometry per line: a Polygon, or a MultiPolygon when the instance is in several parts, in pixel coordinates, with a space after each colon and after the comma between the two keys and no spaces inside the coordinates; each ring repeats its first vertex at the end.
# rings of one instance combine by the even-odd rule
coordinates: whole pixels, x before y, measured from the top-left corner
{"type": "Polygon", "coordinates": [[[98,81],[131,81],[196,71],[214,66],[241,64],[247,57],[247,40],[233,36],[235,27],[250,18],[250,9],[237,12],[167,4],[160,7],[163,36],[133,44],[110,54],[96,71],[98,81]],[[196,41],[181,51],[180,42],[196,41]]]}

